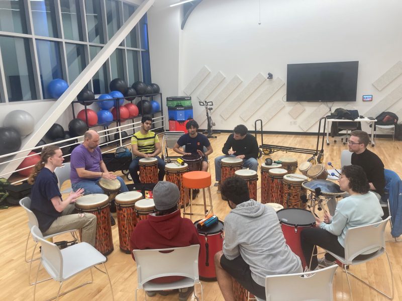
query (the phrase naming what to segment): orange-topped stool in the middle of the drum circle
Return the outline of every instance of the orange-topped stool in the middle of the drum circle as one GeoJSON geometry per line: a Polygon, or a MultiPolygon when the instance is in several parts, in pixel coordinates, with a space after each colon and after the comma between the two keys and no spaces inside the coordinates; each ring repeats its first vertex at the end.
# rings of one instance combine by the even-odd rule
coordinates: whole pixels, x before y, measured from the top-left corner
{"type": "Polygon", "coordinates": [[[190,219],[193,215],[201,215],[201,216],[206,216],[208,212],[214,213],[214,206],[212,205],[212,198],[211,198],[211,174],[208,172],[201,172],[201,171],[195,171],[195,172],[188,172],[183,174],[183,182],[184,186],[184,210],[183,210],[183,217],[184,215],[189,215],[190,219]],[[207,200],[205,197],[205,189],[207,188],[208,190],[208,195],[210,197],[210,204],[208,205],[209,210],[207,209],[207,200]],[[203,198],[204,198],[204,204],[197,204],[194,203],[192,204],[192,200],[190,198],[190,193],[192,192],[192,189],[202,189],[203,190],[203,198]],[[189,200],[187,200],[189,199],[189,200]],[[190,212],[186,212],[186,204],[190,203],[190,212]],[[204,212],[205,214],[201,213],[193,213],[192,212],[192,205],[194,206],[204,206],[204,212]]]}

